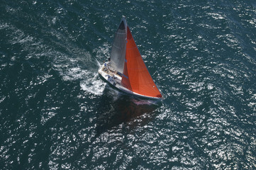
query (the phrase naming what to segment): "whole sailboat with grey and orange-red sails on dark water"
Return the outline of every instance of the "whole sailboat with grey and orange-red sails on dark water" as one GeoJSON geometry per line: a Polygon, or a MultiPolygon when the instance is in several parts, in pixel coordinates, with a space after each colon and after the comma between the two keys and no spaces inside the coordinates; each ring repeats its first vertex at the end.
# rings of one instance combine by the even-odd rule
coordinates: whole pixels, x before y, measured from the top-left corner
{"type": "Polygon", "coordinates": [[[116,31],[111,57],[99,68],[99,75],[128,94],[150,99],[162,98],[140,55],[125,17],[121,19],[116,31]]]}

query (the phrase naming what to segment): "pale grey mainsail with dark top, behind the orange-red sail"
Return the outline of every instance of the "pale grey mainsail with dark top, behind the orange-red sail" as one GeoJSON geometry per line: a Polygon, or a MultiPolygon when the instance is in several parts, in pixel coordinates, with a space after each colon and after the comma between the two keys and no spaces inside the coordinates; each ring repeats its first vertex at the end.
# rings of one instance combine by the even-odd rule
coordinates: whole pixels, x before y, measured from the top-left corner
{"type": "Polygon", "coordinates": [[[111,49],[110,67],[120,73],[123,73],[123,65],[126,58],[126,27],[126,18],[122,18],[111,49]]]}

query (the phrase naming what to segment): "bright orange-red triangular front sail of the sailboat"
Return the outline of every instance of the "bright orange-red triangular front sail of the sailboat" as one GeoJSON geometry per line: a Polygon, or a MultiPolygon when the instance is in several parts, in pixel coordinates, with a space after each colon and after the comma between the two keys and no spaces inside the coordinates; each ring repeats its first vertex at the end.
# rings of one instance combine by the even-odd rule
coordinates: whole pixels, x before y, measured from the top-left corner
{"type": "Polygon", "coordinates": [[[122,85],[143,96],[162,98],[148,69],[143,62],[133,35],[127,26],[126,61],[123,68],[122,85]]]}

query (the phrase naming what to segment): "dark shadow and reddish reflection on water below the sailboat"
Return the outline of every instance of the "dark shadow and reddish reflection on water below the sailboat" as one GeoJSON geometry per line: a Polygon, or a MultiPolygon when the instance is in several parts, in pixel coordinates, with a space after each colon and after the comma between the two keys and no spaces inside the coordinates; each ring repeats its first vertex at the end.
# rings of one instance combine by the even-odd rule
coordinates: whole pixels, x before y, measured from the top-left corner
{"type": "Polygon", "coordinates": [[[96,113],[96,136],[122,123],[128,125],[129,130],[138,125],[146,125],[155,118],[155,110],[160,106],[159,101],[135,98],[112,89],[107,84],[96,113]]]}

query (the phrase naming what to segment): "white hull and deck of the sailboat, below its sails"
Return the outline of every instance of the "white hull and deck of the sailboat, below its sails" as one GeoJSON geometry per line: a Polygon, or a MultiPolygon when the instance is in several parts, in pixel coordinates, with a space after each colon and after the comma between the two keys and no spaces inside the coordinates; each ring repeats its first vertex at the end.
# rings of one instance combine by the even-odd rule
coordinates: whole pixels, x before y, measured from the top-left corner
{"type": "Polygon", "coordinates": [[[135,96],[154,99],[154,100],[160,100],[161,99],[161,98],[157,98],[157,97],[144,96],[144,95],[141,95],[141,94],[137,94],[133,91],[130,91],[129,89],[126,89],[124,86],[121,85],[121,80],[122,80],[121,74],[118,74],[116,71],[109,68],[108,67],[108,62],[105,62],[99,68],[98,72],[101,75],[101,78],[103,78],[105,81],[107,81],[112,86],[116,87],[116,89],[119,89],[123,92],[126,92],[127,94],[133,94],[135,96]]]}

